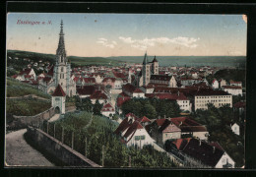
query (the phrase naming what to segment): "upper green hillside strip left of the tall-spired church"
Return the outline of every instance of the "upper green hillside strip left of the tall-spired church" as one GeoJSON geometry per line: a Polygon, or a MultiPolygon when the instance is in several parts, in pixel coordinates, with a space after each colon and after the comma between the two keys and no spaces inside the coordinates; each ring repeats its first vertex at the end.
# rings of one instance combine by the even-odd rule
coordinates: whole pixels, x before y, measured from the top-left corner
{"type": "Polygon", "coordinates": [[[7,78],[7,97],[24,96],[28,94],[35,94],[40,97],[50,98],[51,96],[41,90],[34,89],[28,84],[21,83],[17,80],[7,78]]]}

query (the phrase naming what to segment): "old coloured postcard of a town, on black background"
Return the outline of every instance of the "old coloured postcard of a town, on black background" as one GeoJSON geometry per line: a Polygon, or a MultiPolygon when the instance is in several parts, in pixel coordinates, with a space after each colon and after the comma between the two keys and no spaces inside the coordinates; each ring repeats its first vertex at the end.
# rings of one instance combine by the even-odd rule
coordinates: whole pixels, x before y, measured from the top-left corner
{"type": "Polygon", "coordinates": [[[9,13],[6,167],[243,168],[246,15],[9,13]]]}

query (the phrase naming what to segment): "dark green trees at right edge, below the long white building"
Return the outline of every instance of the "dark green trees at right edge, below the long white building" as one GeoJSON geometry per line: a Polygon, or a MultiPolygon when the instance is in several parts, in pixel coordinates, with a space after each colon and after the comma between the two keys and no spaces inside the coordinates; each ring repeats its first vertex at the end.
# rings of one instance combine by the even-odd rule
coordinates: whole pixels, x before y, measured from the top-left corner
{"type": "Polygon", "coordinates": [[[244,165],[244,132],[242,131],[244,123],[242,120],[234,120],[232,108],[228,106],[216,108],[213,104],[209,104],[208,110],[197,110],[193,117],[197,122],[207,126],[209,141],[219,142],[235,161],[236,167],[244,165]],[[240,136],[231,131],[232,121],[241,127],[240,136]]]}

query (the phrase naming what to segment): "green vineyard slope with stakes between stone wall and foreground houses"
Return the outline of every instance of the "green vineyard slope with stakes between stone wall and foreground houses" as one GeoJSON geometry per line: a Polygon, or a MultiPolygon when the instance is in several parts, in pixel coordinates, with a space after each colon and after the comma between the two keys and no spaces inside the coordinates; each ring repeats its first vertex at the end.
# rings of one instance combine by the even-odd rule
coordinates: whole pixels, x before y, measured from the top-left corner
{"type": "MultiPolygon", "coordinates": [[[[68,113],[64,119],[50,123],[49,134],[53,136],[55,124],[55,137],[61,141],[62,128],[64,129],[64,144],[72,146],[72,132],[74,133],[74,148],[86,154],[97,164],[102,164],[102,150],[105,167],[174,167],[173,162],[165,153],[159,152],[151,146],[127,148],[120,141],[120,137],[113,134],[117,125],[111,120],[93,116],[92,112],[78,111],[68,113]],[[103,147],[104,146],[104,147],[103,147]]],[[[46,131],[46,124],[43,126],[46,131]]]]}

